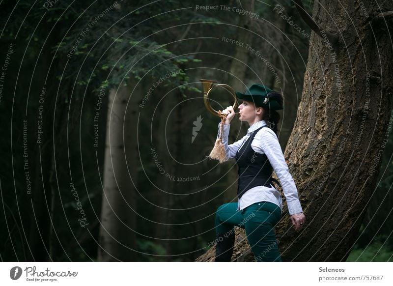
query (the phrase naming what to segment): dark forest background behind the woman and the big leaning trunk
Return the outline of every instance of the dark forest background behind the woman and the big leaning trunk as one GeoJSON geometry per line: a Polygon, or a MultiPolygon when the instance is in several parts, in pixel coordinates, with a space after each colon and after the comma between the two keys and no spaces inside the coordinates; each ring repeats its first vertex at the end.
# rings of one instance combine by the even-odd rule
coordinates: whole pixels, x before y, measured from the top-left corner
{"type": "MultiPolygon", "coordinates": [[[[283,150],[301,100],[309,38],[282,15],[311,31],[290,0],[265,3],[1,1],[1,261],[193,261],[203,254],[215,239],[217,207],[235,201],[237,172],[206,158],[219,118],[206,111],[199,79],[241,91],[261,82],[281,91],[283,150]],[[251,27],[235,11],[196,8],[206,4],[259,17],[251,27]],[[123,94],[118,103],[116,93],[123,94]],[[120,135],[129,132],[113,153],[111,120],[123,126],[120,135]],[[119,206],[128,211],[127,231],[103,216],[110,158],[122,156],[127,168],[114,177],[127,186],[118,192],[132,194],[131,205],[119,206]],[[107,247],[106,224],[132,251],[120,256],[121,249],[107,247]]],[[[313,1],[304,5],[311,11],[313,1]]],[[[215,95],[217,109],[231,103],[225,91],[215,95]]],[[[247,128],[233,120],[229,142],[247,128]]],[[[392,150],[391,134],[348,261],[392,261],[392,150]]]]}

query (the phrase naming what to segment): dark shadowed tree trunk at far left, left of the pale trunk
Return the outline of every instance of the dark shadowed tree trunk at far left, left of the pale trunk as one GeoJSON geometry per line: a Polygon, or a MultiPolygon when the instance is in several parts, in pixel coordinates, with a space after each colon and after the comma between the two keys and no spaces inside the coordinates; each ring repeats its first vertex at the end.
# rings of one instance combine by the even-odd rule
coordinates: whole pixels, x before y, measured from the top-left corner
{"type": "MultiPolygon", "coordinates": [[[[46,27],[49,31],[49,27],[46,27]]],[[[44,50],[50,49],[57,43],[57,35],[51,34],[46,42],[44,50]]],[[[35,80],[42,83],[45,87],[44,102],[38,103],[40,99],[40,93],[42,88],[39,85],[31,89],[30,98],[34,102],[32,107],[29,106],[28,114],[33,117],[33,120],[28,121],[28,130],[33,133],[34,136],[29,137],[29,145],[34,146],[31,148],[31,161],[29,163],[30,174],[33,176],[32,181],[32,194],[29,196],[28,208],[29,208],[29,233],[28,233],[28,245],[27,249],[30,250],[28,260],[32,261],[51,261],[54,259],[54,231],[52,228],[52,222],[54,219],[53,207],[56,200],[56,192],[53,189],[53,173],[55,172],[54,162],[54,132],[55,136],[59,134],[59,126],[54,124],[55,114],[55,101],[56,101],[56,85],[53,84],[52,80],[49,79],[47,85],[45,85],[45,77],[52,71],[49,70],[52,62],[53,55],[51,53],[45,53],[42,61],[37,70],[41,73],[36,75],[35,80]],[[38,119],[38,110],[35,106],[42,105],[42,119],[38,119]],[[37,143],[37,128],[38,120],[42,123],[42,141],[37,143]],[[31,199],[31,200],[30,200],[31,199]]],[[[54,68],[54,67],[53,67],[54,68]]],[[[55,66],[56,68],[56,66],[55,66]]],[[[61,110],[62,107],[59,109],[61,110]]],[[[59,111],[56,111],[57,114],[59,111]]],[[[28,115],[29,116],[29,115],[28,115]]],[[[61,117],[60,117],[61,118],[61,117]]]]}

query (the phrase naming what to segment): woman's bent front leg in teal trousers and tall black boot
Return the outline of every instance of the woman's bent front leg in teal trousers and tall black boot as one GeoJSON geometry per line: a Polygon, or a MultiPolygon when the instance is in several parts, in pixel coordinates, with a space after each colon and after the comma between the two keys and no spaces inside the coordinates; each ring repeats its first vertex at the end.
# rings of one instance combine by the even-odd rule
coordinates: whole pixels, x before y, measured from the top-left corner
{"type": "Polygon", "coordinates": [[[230,261],[235,242],[234,226],[242,225],[243,217],[237,211],[237,202],[220,205],[216,213],[216,259],[215,261],[230,261]]]}

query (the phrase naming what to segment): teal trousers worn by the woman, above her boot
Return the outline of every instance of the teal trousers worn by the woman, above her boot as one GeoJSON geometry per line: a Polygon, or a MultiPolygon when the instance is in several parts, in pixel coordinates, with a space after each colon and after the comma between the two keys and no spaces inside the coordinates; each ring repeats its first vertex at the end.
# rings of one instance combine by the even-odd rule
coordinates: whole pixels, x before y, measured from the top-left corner
{"type": "Polygon", "coordinates": [[[281,219],[281,209],[269,201],[253,203],[237,210],[237,202],[225,203],[217,209],[216,232],[230,234],[234,226],[246,230],[256,261],[282,261],[274,232],[281,219]]]}

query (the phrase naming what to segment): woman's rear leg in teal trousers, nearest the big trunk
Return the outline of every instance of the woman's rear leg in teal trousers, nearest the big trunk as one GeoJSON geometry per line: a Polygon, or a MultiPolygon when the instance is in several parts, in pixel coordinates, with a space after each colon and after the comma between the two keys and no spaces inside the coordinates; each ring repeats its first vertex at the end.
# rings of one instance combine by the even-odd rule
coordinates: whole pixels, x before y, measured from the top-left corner
{"type": "Polygon", "coordinates": [[[282,261],[279,252],[275,225],[281,219],[278,205],[261,201],[244,209],[243,219],[251,249],[257,261],[282,261]]]}

